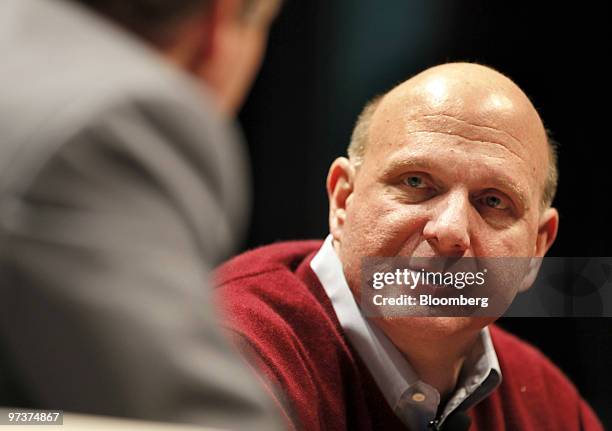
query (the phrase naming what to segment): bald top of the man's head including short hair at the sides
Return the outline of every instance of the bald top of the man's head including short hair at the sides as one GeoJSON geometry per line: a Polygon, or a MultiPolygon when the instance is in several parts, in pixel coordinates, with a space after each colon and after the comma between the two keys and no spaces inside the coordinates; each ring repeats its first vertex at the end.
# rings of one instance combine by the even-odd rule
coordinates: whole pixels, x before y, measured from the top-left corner
{"type": "Polygon", "coordinates": [[[404,134],[454,135],[503,147],[528,160],[541,185],[542,206],[552,203],[557,186],[554,144],[528,97],[501,73],[477,64],[449,63],[375,98],[355,126],[348,149],[351,161],[359,166],[381,132],[399,119],[406,124],[404,134]]]}

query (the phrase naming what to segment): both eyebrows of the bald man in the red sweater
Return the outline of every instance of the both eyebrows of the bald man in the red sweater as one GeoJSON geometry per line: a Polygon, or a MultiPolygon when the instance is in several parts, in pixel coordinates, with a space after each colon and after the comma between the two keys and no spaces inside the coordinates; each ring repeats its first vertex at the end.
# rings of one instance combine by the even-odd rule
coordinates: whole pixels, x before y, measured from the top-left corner
{"type": "MultiPolygon", "coordinates": [[[[382,170],[383,177],[391,177],[398,175],[400,172],[406,172],[409,170],[417,170],[424,171],[428,175],[431,175],[435,179],[435,175],[433,171],[438,169],[444,169],[444,164],[438,163],[435,160],[431,160],[428,158],[423,158],[420,156],[412,157],[410,159],[395,159],[391,160],[389,164],[382,170]]],[[[527,210],[529,209],[529,200],[527,199],[527,193],[525,190],[506,178],[503,174],[499,173],[498,175],[488,176],[486,182],[489,184],[489,189],[499,189],[500,191],[510,194],[512,197],[516,198],[519,206],[527,210]]]]}

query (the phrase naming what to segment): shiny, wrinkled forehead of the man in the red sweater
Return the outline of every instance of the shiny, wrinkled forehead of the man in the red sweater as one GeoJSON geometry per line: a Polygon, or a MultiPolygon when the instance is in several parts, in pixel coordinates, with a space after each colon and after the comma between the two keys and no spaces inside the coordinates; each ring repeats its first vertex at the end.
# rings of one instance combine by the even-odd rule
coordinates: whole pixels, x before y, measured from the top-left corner
{"type": "Polygon", "coordinates": [[[441,133],[505,147],[542,170],[537,176],[543,179],[546,134],[531,102],[497,72],[479,73],[483,76],[472,79],[456,73],[417,75],[391,90],[373,115],[368,150],[386,152],[412,134],[441,133]]]}

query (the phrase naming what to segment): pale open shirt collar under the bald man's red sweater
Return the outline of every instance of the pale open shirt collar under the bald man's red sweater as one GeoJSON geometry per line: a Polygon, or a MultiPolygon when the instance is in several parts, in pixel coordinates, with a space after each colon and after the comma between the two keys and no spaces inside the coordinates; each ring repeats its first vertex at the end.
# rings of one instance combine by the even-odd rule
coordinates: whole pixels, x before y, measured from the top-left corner
{"type": "Polygon", "coordinates": [[[442,424],[459,406],[467,410],[501,383],[501,370],[488,328],[464,363],[462,377],[439,418],[440,394],[419,380],[405,357],[376,325],[363,316],[346,282],[342,263],[329,235],[310,263],[331,300],[350,343],[368,367],[385,399],[410,429],[425,430],[430,421],[442,424]]]}

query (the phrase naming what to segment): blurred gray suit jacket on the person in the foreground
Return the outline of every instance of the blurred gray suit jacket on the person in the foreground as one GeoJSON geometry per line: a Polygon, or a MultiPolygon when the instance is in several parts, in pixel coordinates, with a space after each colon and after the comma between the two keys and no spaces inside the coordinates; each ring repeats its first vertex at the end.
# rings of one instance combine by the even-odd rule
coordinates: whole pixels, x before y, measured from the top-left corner
{"type": "Polygon", "coordinates": [[[246,165],[203,91],[72,4],[0,1],[0,405],[276,428],[211,305],[246,165]]]}

